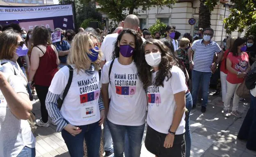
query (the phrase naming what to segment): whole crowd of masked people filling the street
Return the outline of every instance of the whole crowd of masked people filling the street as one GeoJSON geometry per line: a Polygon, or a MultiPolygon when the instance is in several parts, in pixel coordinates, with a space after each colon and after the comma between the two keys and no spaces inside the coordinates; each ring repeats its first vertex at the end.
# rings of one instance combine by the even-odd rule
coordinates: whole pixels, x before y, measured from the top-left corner
{"type": "MultiPolygon", "coordinates": [[[[105,157],[139,157],[145,123],[149,152],[190,157],[190,112],[197,102],[206,112],[213,73],[219,73],[224,117],[240,118],[237,89],[256,61],[253,36],[227,36],[222,46],[213,36],[213,29],[200,28],[194,38],[185,33],[180,39],[174,25],[164,35],[160,30],[151,34],[140,30],[136,15],[109,33],[90,27],[77,34],[43,26],[28,31],[18,24],[1,27],[0,157],[35,157],[27,120],[33,116],[35,92],[41,104],[35,123],[56,125],[71,157],[84,155],[84,139],[88,157],[99,157],[101,125],[105,157]],[[61,40],[51,43],[55,31],[61,31],[61,40]]],[[[256,150],[255,129],[254,85],[238,134],[250,150],[256,150]]]]}

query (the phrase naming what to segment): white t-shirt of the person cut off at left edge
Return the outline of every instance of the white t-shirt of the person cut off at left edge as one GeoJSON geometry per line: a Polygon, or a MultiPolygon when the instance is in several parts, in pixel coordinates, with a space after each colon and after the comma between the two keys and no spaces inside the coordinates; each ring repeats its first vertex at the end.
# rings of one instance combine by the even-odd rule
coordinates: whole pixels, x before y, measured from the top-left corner
{"type": "MultiPolygon", "coordinates": [[[[16,93],[27,94],[27,90],[18,76],[5,74],[5,77],[16,93]]],[[[27,120],[17,119],[11,113],[5,97],[0,91],[0,157],[16,157],[25,146],[35,148],[35,143],[27,120]]]]}

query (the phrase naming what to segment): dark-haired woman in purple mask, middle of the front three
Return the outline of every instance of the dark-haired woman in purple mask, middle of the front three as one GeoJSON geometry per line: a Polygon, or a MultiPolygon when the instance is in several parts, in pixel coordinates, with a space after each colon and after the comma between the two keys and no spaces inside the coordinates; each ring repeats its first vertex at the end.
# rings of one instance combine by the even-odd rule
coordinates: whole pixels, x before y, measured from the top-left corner
{"type": "Polygon", "coordinates": [[[139,33],[124,29],[117,37],[113,60],[103,67],[102,96],[115,157],[123,157],[125,147],[126,157],[140,156],[146,119],[146,93],[137,75],[141,46],[139,33]]]}

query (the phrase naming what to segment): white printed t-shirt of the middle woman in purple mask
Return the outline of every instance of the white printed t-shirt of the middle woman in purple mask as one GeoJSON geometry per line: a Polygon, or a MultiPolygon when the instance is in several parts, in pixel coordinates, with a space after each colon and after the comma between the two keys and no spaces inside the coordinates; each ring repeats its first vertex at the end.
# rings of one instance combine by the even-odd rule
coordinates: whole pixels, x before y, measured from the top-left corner
{"type": "Polygon", "coordinates": [[[110,80],[110,62],[103,67],[102,83],[110,83],[111,101],[107,119],[117,125],[140,126],[146,119],[146,93],[137,75],[135,63],[121,65],[114,60],[110,80]]]}

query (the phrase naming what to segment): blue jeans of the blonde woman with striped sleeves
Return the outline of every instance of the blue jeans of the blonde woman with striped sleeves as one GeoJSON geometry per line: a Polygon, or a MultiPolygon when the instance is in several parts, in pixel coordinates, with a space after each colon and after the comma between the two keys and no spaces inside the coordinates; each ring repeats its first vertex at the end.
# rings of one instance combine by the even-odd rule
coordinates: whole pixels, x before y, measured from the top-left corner
{"type": "Polygon", "coordinates": [[[82,129],[78,135],[72,136],[66,130],[62,130],[62,137],[68,147],[71,157],[83,157],[84,139],[87,146],[88,157],[99,157],[99,150],[101,144],[101,126],[98,122],[83,126],[77,126],[82,129]]]}

